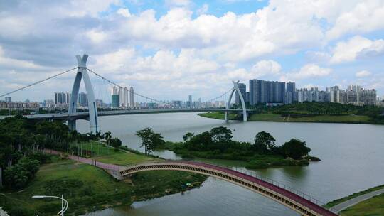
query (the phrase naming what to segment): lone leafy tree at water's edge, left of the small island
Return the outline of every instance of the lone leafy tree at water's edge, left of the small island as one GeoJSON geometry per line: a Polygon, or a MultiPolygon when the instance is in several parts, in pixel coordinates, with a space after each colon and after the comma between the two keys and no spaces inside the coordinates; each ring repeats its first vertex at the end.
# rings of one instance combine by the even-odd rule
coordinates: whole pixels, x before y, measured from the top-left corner
{"type": "Polygon", "coordinates": [[[157,146],[165,143],[161,134],[155,133],[151,128],[142,129],[136,132],[136,135],[142,139],[142,146],[146,155],[155,151],[157,146]]]}

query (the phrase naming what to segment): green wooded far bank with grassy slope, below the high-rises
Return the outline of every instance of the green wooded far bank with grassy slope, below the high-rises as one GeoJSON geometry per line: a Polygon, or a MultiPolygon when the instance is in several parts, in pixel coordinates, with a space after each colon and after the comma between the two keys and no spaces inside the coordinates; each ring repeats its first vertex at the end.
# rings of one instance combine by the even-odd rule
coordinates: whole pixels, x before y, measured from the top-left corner
{"type": "MultiPolygon", "coordinates": [[[[238,108],[234,105],[233,108],[238,108]]],[[[249,121],[286,121],[286,122],[324,122],[354,124],[384,124],[384,107],[372,105],[355,106],[330,102],[304,102],[281,106],[257,104],[247,109],[254,109],[248,117],[249,121]]],[[[199,114],[202,117],[224,119],[219,112],[199,114]]],[[[238,114],[231,114],[230,119],[241,119],[238,114]]]]}

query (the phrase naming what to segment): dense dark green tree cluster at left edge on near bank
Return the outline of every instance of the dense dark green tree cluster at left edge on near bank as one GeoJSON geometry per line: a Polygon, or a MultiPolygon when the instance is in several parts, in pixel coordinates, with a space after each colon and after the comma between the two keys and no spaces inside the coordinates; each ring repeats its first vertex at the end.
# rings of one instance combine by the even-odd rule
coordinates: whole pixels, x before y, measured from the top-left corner
{"type": "MultiPolygon", "coordinates": [[[[80,134],[69,131],[62,121],[27,121],[21,115],[0,121],[0,187],[11,189],[25,187],[33,179],[41,163],[48,161],[44,148],[70,152],[70,144],[90,140],[107,141],[115,147],[122,145],[111,132],[80,134]]],[[[73,150],[73,149],[72,149],[73,150]]],[[[73,151],[78,153],[78,151],[73,151]]]]}

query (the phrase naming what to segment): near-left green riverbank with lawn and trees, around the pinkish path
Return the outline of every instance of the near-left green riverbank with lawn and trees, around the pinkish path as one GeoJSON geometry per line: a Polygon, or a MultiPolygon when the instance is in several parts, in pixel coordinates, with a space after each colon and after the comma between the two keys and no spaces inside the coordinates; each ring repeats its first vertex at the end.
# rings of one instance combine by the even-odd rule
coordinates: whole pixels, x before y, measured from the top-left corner
{"type": "Polygon", "coordinates": [[[16,116],[0,121],[0,206],[10,215],[55,215],[60,201],[32,195],[61,195],[68,215],[130,205],[134,201],[178,193],[181,185],[198,187],[206,176],[179,171],[151,171],[118,181],[100,168],[41,153],[52,148],[97,161],[127,165],[161,160],[121,146],[110,132],[79,134],[60,121],[33,123],[16,116]],[[129,150],[129,151],[127,151],[129,150]]]}

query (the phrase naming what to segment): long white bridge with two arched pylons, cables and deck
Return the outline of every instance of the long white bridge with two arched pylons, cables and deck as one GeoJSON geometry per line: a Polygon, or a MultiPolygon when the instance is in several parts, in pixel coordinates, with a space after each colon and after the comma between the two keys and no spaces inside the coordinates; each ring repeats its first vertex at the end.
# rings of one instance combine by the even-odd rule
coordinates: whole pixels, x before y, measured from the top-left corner
{"type": "MultiPolygon", "coordinates": [[[[125,114],[151,114],[151,113],[161,113],[161,112],[225,112],[225,121],[228,122],[228,113],[230,112],[240,112],[242,113],[242,121],[247,121],[247,113],[251,112],[252,110],[247,110],[245,107],[245,100],[242,97],[242,93],[239,89],[239,81],[233,82],[233,87],[228,90],[226,93],[229,93],[228,102],[226,103],[225,109],[218,109],[218,108],[193,108],[193,109],[122,109],[122,110],[111,110],[111,111],[97,111],[97,105],[96,105],[96,99],[95,99],[95,92],[94,88],[92,86],[92,82],[90,80],[90,75],[88,72],[92,72],[92,74],[96,75],[97,77],[100,77],[102,80],[105,80],[109,82],[110,84],[117,86],[119,88],[123,88],[122,86],[118,85],[116,82],[113,82],[106,77],[103,77],[97,72],[90,70],[87,68],[87,59],[88,55],[76,55],[76,58],[78,60],[78,67],[73,68],[71,70],[78,69],[78,72],[76,72],[75,75],[75,81],[73,82],[72,87],[72,96],[70,97],[70,103],[68,104],[68,113],[55,113],[55,114],[34,114],[34,115],[27,115],[27,119],[32,120],[41,120],[41,119],[49,119],[49,120],[65,120],[68,121],[68,127],[70,130],[76,129],[76,120],[78,119],[86,119],[90,121],[90,131],[93,133],[96,133],[100,130],[100,126],[98,124],[98,117],[99,116],[110,116],[110,115],[125,115],[125,114]],[[87,104],[88,104],[88,112],[78,112],[78,94],[80,90],[80,83],[81,80],[84,81],[85,90],[87,92],[87,104]],[[240,97],[241,107],[242,109],[230,109],[230,102],[233,97],[233,94],[237,92],[240,97]]],[[[0,95],[0,97],[4,97],[7,95],[11,95],[14,92],[18,92],[20,90],[24,90],[28,87],[31,87],[33,85],[37,85],[41,82],[45,82],[46,80],[50,80],[51,78],[58,77],[60,75],[63,75],[67,72],[70,72],[71,70],[66,70],[64,72],[59,73],[58,75],[54,75],[52,77],[48,77],[44,80],[40,80],[38,82],[34,82],[31,85],[27,85],[25,87],[21,87],[17,90],[8,92],[4,95],[0,95]]],[[[163,104],[167,104],[164,101],[160,101],[159,99],[153,99],[151,97],[146,97],[144,95],[137,94],[137,92],[133,92],[133,90],[127,90],[130,94],[136,95],[137,97],[142,97],[145,99],[149,99],[151,102],[159,102],[163,104]]],[[[222,97],[223,95],[220,95],[219,97],[222,97]]],[[[215,97],[213,99],[217,99],[218,97],[215,97]]],[[[213,101],[211,99],[210,101],[213,101]]],[[[4,119],[4,117],[0,117],[0,119],[4,119]]]]}

